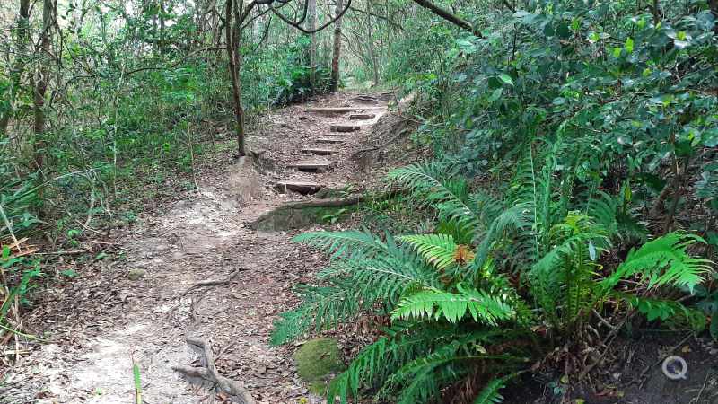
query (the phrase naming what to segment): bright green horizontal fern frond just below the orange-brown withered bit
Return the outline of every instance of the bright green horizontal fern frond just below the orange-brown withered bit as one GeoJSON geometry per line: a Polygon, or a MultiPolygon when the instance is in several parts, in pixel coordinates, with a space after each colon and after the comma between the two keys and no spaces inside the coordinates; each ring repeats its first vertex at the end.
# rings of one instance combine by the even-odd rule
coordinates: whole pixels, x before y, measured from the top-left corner
{"type": "Polygon", "coordinates": [[[409,295],[401,299],[391,313],[391,319],[444,318],[457,322],[468,312],[474,321],[496,325],[498,321],[509,320],[515,314],[512,307],[499,297],[462,285],[458,289],[459,294],[428,289],[409,295]]]}

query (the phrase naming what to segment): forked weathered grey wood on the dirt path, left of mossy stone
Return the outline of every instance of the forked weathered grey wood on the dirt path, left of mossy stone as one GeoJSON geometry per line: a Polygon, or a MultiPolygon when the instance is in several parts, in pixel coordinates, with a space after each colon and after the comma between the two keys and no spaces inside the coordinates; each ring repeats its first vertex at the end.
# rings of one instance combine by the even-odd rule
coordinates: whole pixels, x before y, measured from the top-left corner
{"type": "Polygon", "coordinates": [[[187,338],[187,345],[199,356],[201,367],[194,366],[172,366],[172,370],[182,373],[188,377],[201,379],[214,386],[216,392],[232,396],[239,404],[255,404],[250,391],[244,388],[240,382],[235,382],[217,372],[215,366],[215,354],[212,352],[212,345],[205,339],[187,338]]]}

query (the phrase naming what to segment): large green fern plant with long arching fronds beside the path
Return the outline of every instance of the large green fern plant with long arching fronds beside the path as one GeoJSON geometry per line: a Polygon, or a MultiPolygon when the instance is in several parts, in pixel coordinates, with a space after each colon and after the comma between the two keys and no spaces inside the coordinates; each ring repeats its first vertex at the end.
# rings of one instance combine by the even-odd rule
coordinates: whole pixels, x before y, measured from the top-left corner
{"type": "MultiPolygon", "coordinates": [[[[555,153],[561,145],[550,147],[555,153]]],[[[472,191],[451,164],[393,171],[391,181],[434,209],[435,233],[297,236],[332,260],[318,275],[319,285],[300,289],[303,303],[276,323],[273,342],[333,328],[365,312],[386,315],[390,328],[330,384],[328,397],[345,403],[374,391],[392,402],[431,402],[464,383],[471,400],[486,403],[502,400],[505,382],[556,341],[538,335],[537,324],[550,324],[549,333],[562,344],[576,342],[592,313],[614,299],[650,320],[685,314],[700,324],[695,311],[651,292],[691,289],[702,281],[710,262],[687,253],[701,240],[670,233],[632,250],[607,273],[601,256],[625,230],[618,215],[628,210],[601,192],[574,198],[574,173],[557,165],[550,153],[530,151],[503,200],[472,191]],[[627,278],[643,281],[648,293],[617,291],[627,278]],[[477,379],[484,382],[482,391],[468,388],[477,379]]]]}

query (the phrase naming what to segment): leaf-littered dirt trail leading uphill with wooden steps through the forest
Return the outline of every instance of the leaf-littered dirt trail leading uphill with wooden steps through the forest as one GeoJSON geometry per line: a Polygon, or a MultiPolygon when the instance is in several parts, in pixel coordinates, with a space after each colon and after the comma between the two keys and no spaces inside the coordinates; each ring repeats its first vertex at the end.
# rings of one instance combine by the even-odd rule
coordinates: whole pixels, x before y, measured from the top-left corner
{"type": "MultiPolygon", "coordinates": [[[[376,115],[370,120],[349,119],[352,111],[311,112],[306,104],[262,117],[248,139],[250,150],[264,151],[258,159],[262,172],[247,161],[200,169],[199,193],[188,191],[160,206],[159,214],[141,215],[114,240],[121,251],[117,260],[99,261],[94,274],[51,291],[37,314],[45,321],[38,329],[49,329],[50,343],[23,358],[5,391],[0,386],[7,400],[0,402],[134,403],[133,357],[145,403],[212,402],[206,390],[171,370],[196,359],[186,338],[211,339],[222,352],[216,359],[220,373],[244,384],[257,403],[308,398],[294,372],[293,347],[270,347],[268,341],[277,315],[297,302],[293,285],[310,281],[324,258],[290,242],[298,232],[257,232],[248,224],[287,201],[311,198],[292,192],[308,183],[331,188],[354,183],[361,189],[360,170],[350,156],[369,136],[385,102],[370,105],[341,93],[312,105],[381,109],[366,112],[376,115]],[[352,131],[330,132],[337,125],[335,130],[349,125],[352,131]],[[322,144],[322,138],[340,143],[322,144]],[[311,163],[316,167],[306,167],[311,163]],[[187,292],[197,282],[237,270],[226,285],[187,292]],[[133,275],[141,277],[132,280],[133,275]]],[[[224,156],[223,162],[229,160],[224,156]]]]}

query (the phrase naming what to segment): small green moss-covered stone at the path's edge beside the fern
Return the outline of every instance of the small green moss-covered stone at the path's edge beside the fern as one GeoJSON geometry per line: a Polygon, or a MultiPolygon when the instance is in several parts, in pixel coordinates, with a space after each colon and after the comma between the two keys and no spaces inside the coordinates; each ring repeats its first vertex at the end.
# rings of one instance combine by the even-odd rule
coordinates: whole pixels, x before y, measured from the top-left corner
{"type": "Polygon", "coordinates": [[[294,353],[294,361],[299,377],[317,394],[323,394],[327,382],[346,369],[337,338],[315,338],[305,342],[294,353]]]}

